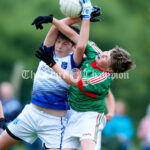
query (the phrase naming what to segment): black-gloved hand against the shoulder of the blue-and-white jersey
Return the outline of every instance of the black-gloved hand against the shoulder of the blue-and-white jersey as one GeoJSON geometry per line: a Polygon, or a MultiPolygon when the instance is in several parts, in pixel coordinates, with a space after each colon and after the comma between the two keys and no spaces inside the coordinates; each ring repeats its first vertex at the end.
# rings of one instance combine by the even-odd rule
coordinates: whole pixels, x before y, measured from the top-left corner
{"type": "Polygon", "coordinates": [[[39,48],[38,51],[36,51],[35,56],[41,60],[43,60],[49,67],[53,67],[56,62],[53,59],[53,49],[48,49],[46,46],[44,48],[39,48]]]}

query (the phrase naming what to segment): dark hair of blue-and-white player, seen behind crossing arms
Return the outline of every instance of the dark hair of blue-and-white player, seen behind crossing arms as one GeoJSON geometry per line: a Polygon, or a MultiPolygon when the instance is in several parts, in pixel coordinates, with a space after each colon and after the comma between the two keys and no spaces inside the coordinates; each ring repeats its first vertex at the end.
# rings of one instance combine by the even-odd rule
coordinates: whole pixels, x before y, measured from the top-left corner
{"type": "MultiPolygon", "coordinates": [[[[70,28],[73,29],[76,33],[80,34],[80,27],[79,27],[79,25],[73,24],[73,25],[70,26],[70,28]]],[[[65,36],[60,31],[58,32],[58,37],[60,37],[62,39],[65,39],[65,40],[68,40],[68,41],[70,41],[72,43],[72,45],[75,45],[75,43],[71,39],[69,39],[67,36],[65,36]]]]}

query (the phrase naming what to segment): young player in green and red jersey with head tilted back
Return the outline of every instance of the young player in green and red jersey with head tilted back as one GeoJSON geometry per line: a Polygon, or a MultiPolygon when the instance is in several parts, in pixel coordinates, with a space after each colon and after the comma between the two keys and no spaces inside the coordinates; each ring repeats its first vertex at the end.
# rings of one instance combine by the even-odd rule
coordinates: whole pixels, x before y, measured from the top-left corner
{"type": "MultiPolygon", "coordinates": [[[[83,52],[84,49],[81,54],[83,52]]],[[[52,53],[47,51],[46,47],[39,54],[47,64],[53,63],[52,53]]],[[[98,134],[106,123],[104,109],[111,73],[125,72],[134,66],[129,53],[119,47],[102,52],[94,42],[89,41],[85,54],[87,59],[82,64],[78,78],[70,77],[71,75],[57,64],[52,67],[66,83],[72,85],[69,102],[73,115],[65,129],[62,146],[64,150],[77,149],[79,141],[82,150],[95,149],[98,134]]]]}

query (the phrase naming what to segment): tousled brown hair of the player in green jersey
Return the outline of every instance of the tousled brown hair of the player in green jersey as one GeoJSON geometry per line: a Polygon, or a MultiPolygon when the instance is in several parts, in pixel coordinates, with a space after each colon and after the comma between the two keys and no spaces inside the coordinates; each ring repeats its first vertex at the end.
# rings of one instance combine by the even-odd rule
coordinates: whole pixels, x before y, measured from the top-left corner
{"type": "Polygon", "coordinates": [[[111,64],[110,68],[115,73],[123,73],[129,69],[135,68],[135,64],[130,58],[130,54],[124,49],[116,46],[110,53],[111,64]]]}

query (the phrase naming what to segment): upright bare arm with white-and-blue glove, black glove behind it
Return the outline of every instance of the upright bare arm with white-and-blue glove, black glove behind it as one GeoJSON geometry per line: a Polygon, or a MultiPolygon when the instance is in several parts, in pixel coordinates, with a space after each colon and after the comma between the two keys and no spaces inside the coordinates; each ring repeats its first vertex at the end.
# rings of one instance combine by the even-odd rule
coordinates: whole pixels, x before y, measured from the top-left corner
{"type": "Polygon", "coordinates": [[[82,25],[76,51],[74,53],[74,61],[76,64],[80,64],[83,59],[87,42],[89,40],[90,21],[99,21],[95,20],[95,16],[100,15],[100,8],[93,7],[91,5],[90,0],[86,1],[80,0],[80,2],[82,5],[82,12],[81,12],[82,25]]]}

